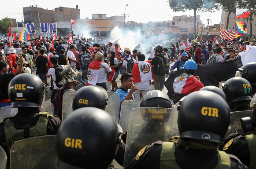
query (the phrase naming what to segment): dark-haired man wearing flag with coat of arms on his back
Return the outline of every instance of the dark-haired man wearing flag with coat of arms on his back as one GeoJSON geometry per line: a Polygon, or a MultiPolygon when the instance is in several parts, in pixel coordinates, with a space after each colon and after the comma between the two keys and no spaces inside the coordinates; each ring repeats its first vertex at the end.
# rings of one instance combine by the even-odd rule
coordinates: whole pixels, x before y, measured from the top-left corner
{"type": "Polygon", "coordinates": [[[138,62],[133,66],[132,74],[134,75],[134,84],[137,86],[138,90],[135,91],[135,101],[141,100],[141,93],[144,96],[149,92],[150,82],[153,79],[153,73],[151,66],[145,61],[145,55],[138,55],[138,62]]]}

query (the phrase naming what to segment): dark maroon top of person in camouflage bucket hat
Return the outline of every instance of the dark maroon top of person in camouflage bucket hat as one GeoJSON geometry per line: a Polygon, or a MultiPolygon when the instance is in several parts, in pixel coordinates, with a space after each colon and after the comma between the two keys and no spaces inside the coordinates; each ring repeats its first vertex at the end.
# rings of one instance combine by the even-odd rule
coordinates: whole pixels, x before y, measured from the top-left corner
{"type": "MultiPolygon", "coordinates": [[[[64,86],[62,88],[57,88],[57,92],[52,100],[53,104],[53,114],[57,115],[61,120],[62,120],[62,99],[63,99],[63,94],[62,91],[70,88],[68,86],[64,86]]],[[[73,88],[70,88],[73,89],[73,88]]],[[[73,89],[74,90],[74,89],[73,89]]]]}

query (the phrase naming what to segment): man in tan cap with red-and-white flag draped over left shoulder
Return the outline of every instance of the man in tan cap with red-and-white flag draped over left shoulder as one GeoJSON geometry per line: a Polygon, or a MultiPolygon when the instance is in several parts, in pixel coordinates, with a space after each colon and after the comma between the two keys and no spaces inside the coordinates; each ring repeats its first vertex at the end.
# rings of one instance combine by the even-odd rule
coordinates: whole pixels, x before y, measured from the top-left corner
{"type": "Polygon", "coordinates": [[[87,85],[101,86],[107,91],[108,88],[106,83],[109,75],[112,73],[112,70],[110,68],[110,62],[107,64],[103,62],[103,59],[103,54],[98,52],[95,55],[95,61],[89,64],[87,85]]]}

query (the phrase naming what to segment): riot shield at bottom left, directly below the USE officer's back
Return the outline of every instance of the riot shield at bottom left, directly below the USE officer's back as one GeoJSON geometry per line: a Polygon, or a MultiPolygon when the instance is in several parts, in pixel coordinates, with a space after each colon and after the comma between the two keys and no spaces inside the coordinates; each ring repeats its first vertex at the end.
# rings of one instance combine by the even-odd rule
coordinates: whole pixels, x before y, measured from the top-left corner
{"type": "Polygon", "coordinates": [[[10,152],[11,169],[55,169],[56,135],[19,140],[10,152]]]}

